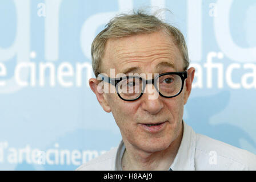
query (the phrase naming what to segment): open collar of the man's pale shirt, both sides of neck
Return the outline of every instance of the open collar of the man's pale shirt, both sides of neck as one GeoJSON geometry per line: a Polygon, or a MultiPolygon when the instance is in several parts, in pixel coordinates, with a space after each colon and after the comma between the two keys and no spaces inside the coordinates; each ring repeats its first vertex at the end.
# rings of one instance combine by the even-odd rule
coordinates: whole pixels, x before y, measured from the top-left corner
{"type": "MultiPolygon", "coordinates": [[[[183,123],[183,135],[181,140],[181,145],[174,158],[170,169],[173,171],[194,171],[195,170],[195,132],[188,126],[184,121],[183,123]]],[[[113,169],[117,171],[122,170],[121,160],[125,152],[125,144],[121,140],[117,154],[115,156],[115,161],[113,163],[113,169]]]]}

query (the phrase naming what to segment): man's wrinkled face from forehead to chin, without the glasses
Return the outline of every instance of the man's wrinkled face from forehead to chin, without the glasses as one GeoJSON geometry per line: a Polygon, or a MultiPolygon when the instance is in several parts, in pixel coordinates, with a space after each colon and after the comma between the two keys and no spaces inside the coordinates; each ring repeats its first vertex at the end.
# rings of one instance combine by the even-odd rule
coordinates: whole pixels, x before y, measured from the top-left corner
{"type": "MultiPolygon", "coordinates": [[[[151,73],[154,77],[154,73],[181,72],[184,64],[170,36],[159,31],[108,40],[101,68],[109,77],[110,69],[115,69],[115,74],[151,73]]],[[[157,152],[169,147],[182,133],[183,105],[190,89],[185,84],[177,97],[158,96],[152,100],[149,96],[156,90],[152,84],[147,84],[146,93],[138,100],[123,101],[117,93],[103,93],[100,103],[105,111],[113,113],[126,145],[136,150],[157,152]],[[146,125],[159,123],[159,126],[146,125]]]]}

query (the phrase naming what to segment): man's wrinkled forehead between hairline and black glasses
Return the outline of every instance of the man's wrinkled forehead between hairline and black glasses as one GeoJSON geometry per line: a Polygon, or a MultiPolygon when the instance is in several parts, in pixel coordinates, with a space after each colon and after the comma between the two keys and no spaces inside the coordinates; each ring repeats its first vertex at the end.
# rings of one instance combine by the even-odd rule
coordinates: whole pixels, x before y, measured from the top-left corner
{"type": "Polygon", "coordinates": [[[178,47],[164,31],[109,39],[102,59],[102,71],[109,73],[178,71],[183,61],[178,47]],[[172,67],[172,68],[171,68],[172,67]]]}

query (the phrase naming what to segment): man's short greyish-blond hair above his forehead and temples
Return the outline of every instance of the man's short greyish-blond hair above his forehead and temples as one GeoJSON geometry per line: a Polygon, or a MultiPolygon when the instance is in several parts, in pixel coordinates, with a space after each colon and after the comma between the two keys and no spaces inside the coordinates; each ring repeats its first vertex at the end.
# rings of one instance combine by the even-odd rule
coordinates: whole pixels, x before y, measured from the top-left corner
{"type": "Polygon", "coordinates": [[[146,14],[139,10],[133,12],[133,14],[115,16],[106,24],[106,28],[95,37],[91,44],[92,66],[95,76],[97,77],[101,73],[101,59],[105,52],[107,40],[130,35],[149,34],[160,30],[166,30],[167,34],[173,38],[174,44],[181,51],[185,64],[184,70],[186,70],[189,67],[189,55],[185,38],[181,31],[163,22],[155,15],[146,14]]]}

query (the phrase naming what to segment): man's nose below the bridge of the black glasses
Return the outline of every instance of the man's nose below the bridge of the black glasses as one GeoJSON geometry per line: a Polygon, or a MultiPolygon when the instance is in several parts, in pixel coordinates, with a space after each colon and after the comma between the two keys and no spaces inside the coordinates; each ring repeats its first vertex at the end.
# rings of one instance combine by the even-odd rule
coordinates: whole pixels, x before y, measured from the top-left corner
{"type": "Polygon", "coordinates": [[[150,114],[157,114],[163,108],[163,103],[159,97],[159,93],[153,84],[147,84],[146,92],[142,96],[142,109],[150,114]]]}

